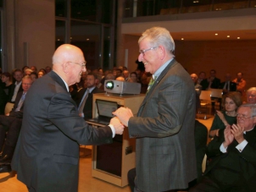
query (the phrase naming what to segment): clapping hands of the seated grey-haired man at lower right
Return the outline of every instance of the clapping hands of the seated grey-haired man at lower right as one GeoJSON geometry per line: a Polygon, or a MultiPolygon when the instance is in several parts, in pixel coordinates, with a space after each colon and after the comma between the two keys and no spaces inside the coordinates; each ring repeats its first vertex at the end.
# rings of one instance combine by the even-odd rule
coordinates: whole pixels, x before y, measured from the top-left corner
{"type": "Polygon", "coordinates": [[[237,140],[238,143],[241,143],[244,140],[243,131],[244,128],[239,124],[226,126],[224,130],[225,141],[223,142],[223,145],[227,147],[233,142],[234,139],[237,140]]]}

